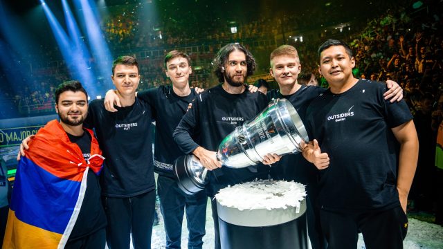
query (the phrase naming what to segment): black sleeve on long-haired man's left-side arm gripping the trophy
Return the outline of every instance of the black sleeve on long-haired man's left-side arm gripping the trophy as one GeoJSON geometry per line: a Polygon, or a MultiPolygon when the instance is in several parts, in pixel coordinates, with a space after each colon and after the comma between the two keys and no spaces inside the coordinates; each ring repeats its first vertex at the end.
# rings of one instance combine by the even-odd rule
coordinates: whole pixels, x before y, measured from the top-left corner
{"type": "Polygon", "coordinates": [[[197,99],[192,103],[192,108],[181,118],[179,125],[174,130],[174,141],[179,145],[183,153],[190,154],[199,145],[192,140],[191,136],[199,124],[199,103],[197,99]]]}

